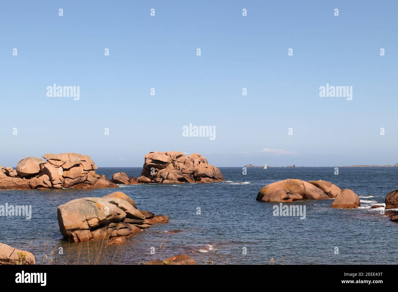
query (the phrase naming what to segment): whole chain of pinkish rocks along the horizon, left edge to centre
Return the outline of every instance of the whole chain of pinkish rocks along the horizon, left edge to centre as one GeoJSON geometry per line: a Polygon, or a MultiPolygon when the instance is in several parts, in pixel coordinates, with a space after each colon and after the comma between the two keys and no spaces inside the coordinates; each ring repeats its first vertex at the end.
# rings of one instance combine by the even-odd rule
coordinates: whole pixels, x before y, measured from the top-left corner
{"type": "Polygon", "coordinates": [[[220,170],[200,154],[189,156],[181,152],[150,152],[145,155],[139,178],[124,172],[112,179],[96,174],[98,167],[88,155],[60,153],[43,155],[43,159],[26,157],[16,170],[0,165],[0,190],[100,189],[119,188],[117,184],[176,184],[224,181],[220,170]]]}

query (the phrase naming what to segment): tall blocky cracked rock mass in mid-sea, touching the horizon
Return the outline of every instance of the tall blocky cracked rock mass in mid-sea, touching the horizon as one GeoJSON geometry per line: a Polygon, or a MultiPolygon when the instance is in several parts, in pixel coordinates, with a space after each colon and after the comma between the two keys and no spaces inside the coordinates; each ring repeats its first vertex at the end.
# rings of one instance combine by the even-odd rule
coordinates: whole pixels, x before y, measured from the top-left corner
{"type": "Polygon", "coordinates": [[[144,169],[138,181],[144,184],[176,184],[185,182],[221,182],[220,170],[200,154],[181,152],[150,152],[145,155],[144,169]]]}

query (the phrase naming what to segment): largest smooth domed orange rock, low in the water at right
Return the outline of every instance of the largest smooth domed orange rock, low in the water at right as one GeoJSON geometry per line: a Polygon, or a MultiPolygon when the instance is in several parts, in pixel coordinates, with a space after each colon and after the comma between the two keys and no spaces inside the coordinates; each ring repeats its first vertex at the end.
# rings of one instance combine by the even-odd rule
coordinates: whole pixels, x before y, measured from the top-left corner
{"type": "Polygon", "coordinates": [[[287,179],[263,187],[256,200],[263,202],[291,202],[305,199],[329,199],[320,188],[303,180],[287,179]]]}

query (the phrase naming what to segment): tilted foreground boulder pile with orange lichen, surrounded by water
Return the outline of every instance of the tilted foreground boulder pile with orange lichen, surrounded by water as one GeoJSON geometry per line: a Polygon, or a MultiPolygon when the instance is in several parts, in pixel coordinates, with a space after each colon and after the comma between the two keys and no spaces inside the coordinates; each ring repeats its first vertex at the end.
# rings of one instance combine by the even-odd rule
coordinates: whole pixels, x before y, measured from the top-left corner
{"type": "Polygon", "coordinates": [[[59,230],[73,242],[93,239],[117,239],[133,236],[156,223],[167,223],[168,217],[139,211],[125,193],[105,197],[86,197],[58,207],[59,230]]]}

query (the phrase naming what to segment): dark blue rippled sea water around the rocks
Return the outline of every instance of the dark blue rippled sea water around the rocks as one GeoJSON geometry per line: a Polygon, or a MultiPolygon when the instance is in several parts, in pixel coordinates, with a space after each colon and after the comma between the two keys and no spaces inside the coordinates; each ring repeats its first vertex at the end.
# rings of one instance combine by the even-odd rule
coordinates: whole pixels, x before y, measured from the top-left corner
{"type": "MultiPolygon", "coordinates": [[[[98,168],[111,178],[115,172],[140,176],[142,168],[98,168]]],[[[0,217],[0,242],[28,250],[37,264],[138,264],[184,253],[197,263],[213,264],[392,264],[398,250],[398,224],[381,213],[388,192],[396,190],[398,167],[339,168],[220,168],[226,182],[213,184],[120,185],[101,190],[0,191],[0,205],[31,205],[32,218],[0,217]],[[361,198],[358,209],[332,209],[333,199],[295,201],[306,207],[306,219],[273,216],[279,203],[256,201],[265,185],[287,178],[327,180],[349,188],[361,198]],[[101,248],[94,242],[62,239],[57,207],[72,199],[102,197],[113,191],[129,195],[141,210],[167,215],[129,238],[123,245],[101,248]],[[198,209],[200,208],[200,209],[198,209]],[[199,212],[200,211],[200,212],[199,212]],[[155,251],[155,254],[152,254],[155,251]],[[61,253],[61,254],[60,254],[61,253]]]]}

